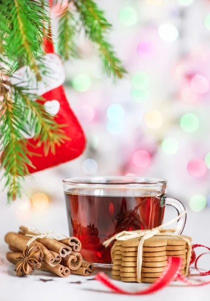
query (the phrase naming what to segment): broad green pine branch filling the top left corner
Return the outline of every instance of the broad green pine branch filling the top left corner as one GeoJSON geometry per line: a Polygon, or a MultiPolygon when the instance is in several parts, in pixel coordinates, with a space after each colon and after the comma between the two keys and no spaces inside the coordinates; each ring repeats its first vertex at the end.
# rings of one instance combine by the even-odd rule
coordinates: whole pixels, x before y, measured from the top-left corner
{"type": "Polygon", "coordinates": [[[5,54],[9,60],[29,65],[41,79],[36,59],[42,53],[43,38],[47,37],[44,21],[49,22],[46,5],[40,0],[7,0],[7,30],[1,31],[5,54]]]}

